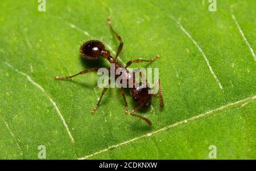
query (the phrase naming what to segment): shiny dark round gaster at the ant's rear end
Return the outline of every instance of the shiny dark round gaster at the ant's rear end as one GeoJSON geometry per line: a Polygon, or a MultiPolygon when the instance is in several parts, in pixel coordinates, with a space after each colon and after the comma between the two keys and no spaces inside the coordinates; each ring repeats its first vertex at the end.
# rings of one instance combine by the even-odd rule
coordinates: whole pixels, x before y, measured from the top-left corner
{"type": "Polygon", "coordinates": [[[105,50],[105,46],[101,41],[89,40],[80,47],[80,54],[86,59],[98,59],[102,50],[105,50]]]}

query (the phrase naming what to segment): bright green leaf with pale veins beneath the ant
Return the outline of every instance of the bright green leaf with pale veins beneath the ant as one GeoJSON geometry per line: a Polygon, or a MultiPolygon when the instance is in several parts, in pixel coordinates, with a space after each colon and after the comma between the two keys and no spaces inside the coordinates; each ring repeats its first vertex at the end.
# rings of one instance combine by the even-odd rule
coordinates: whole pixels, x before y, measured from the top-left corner
{"type": "MultiPolygon", "coordinates": [[[[255,1],[5,1],[0,6],[0,159],[255,159],[255,1]],[[72,80],[89,67],[80,42],[97,39],[121,63],[159,68],[159,99],[138,112],[153,125],[125,114],[117,88],[101,95],[97,73],[72,80]]],[[[129,109],[135,108],[126,91],[129,109]]]]}

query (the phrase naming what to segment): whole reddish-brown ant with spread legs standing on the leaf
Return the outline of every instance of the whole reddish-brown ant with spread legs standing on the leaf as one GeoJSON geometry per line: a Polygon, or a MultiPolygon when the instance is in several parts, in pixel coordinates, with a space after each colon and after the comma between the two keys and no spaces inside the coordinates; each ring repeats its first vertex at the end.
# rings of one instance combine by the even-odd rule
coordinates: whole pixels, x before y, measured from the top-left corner
{"type": "MultiPolygon", "coordinates": [[[[89,59],[89,60],[98,59],[100,57],[108,59],[108,61],[110,63],[114,64],[115,71],[117,69],[119,69],[119,70],[121,69],[122,72],[126,72],[126,74],[125,74],[126,78],[125,79],[127,79],[128,80],[127,83],[129,83],[130,72],[127,71],[126,69],[127,69],[127,67],[129,67],[131,65],[131,63],[133,63],[133,62],[135,62],[135,63],[151,62],[151,61],[155,61],[160,56],[156,55],[156,57],[148,59],[148,60],[135,59],[135,60],[127,62],[126,66],[123,67],[121,65],[121,63],[118,63],[118,60],[117,60],[117,57],[118,57],[119,53],[121,52],[121,50],[123,48],[123,41],[121,39],[121,36],[119,36],[118,33],[114,31],[114,29],[112,27],[112,22],[111,22],[109,17],[108,17],[108,24],[109,24],[109,27],[110,27],[111,31],[114,33],[114,35],[117,37],[118,41],[120,42],[119,46],[118,46],[117,53],[115,54],[115,58],[112,57],[112,55],[110,55],[109,50],[105,49],[105,45],[101,41],[98,41],[98,40],[89,40],[89,41],[84,42],[84,44],[82,44],[81,47],[80,47],[80,54],[82,55],[82,57],[84,57],[86,59],[89,59]]],[[[77,76],[77,75],[80,75],[80,74],[85,74],[85,73],[90,72],[90,71],[96,71],[97,72],[99,69],[100,68],[98,68],[98,67],[93,67],[91,69],[86,69],[86,70],[81,71],[81,72],[79,72],[75,75],[72,75],[72,76],[64,76],[64,77],[63,76],[55,76],[55,79],[56,80],[70,79],[70,78],[73,78],[74,76],[77,76]]],[[[119,76],[119,75],[115,74],[115,78],[117,78],[117,76],[119,76]]],[[[142,75],[141,72],[140,72],[140,76],[143,78],[143,75],[142,75]]],[[[133,84],[135,84],[135,79],[134,78],[133,78],[132,82],[133,82],[133,84]]],[[[108,85],[109,84],[110,84],[110,79],[109,79],[108,85]]],[[[163,93],[162,93],[162,87],[161,87],[161,84],[160,84],[160,79],[158,79],[158,81],[155,83],[155,88],[156,88],[157,84],[159,86],[160,108],[163,109],[164,102],[163,102],[163,93]]],[[[150,90],[150,89],[151,88],[148,85],[147,80],[146,80],[146,86],[145,85],[143,86],[142,82],[139,83],[139,87],[135,87],[134,85],[132,86],[132,88],[130,89],[130,94],[131,94],[131,96],[133,96],[133,99],[137,102],[137,107],[134,108],[133,110],[131,110],[130,114],[134,117],[138,117],[138,118],[143,119],[144,121],[146,121],[148,123],[148,125],[151,126],[152,122],[149,119],[134,113],[135,111],[137,111],[139,109],[147,108],[148,106],[151,105],[152,94],[148,93],[148,90],[150,90]]],[[[108,86],[105,86],[102,93],[101,93],[101,97],[97,102],[97,105],[92,110],[92,113],[95,113],[96,110],[98,109],[98,105],[100,105],[102,96],[106,93],[107,90],[108,90],[108,86]]],[[[127,102],[126,102],[123,87],[119,88],[119,90],[120,90],[121,95],[123,97],[123,101],[125,101],[125,106],[126,106],[125,112],[127,114],[128,113],[128,105],[127,105],[127,102]]]]}

